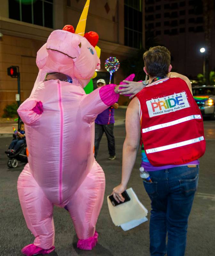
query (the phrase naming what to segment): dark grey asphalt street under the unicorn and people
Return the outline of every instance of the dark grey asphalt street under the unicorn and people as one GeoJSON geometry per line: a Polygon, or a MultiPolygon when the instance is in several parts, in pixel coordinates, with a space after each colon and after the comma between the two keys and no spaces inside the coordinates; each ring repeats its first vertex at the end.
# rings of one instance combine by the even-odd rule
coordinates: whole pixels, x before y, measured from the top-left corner
{"type": "MultiPolygon", "coordinates": [[[[116,111],[116,119],[124,114],[116,111]]],[[[100,144],[97,161],[106,176],[104,203],[97,222],[99,243],[92,251],[81,251],[76,248],[77,236],[67,211],[54,207],[55,251],[49,255],[107,255],[107,256],[149,256],[149,221],[123,231],[115,227],[108,212],[107,196],[121,179],[122,147],[125,137],[123,117],[116,122],[116,159],[108,160],[108,148],[105,135],[100,144]]],[[[189,218],[186,256],[215,255],[215,121],[204,121],[207,149],[200,159],[200,176],[198,191],[189,218]]],[[[8,135],[10,136],[10,135],[8,135]]],[[[24,164],[19,163],[15,169],[7,167],[7,156],[4,151],[11,142],[11,137],[0,137],[0,255],[21,256],[21,248],[34,241],[22,215],[18,194],[17,179],[24,164]]],[[[148,209],[150,217],[150,200],[139,177],[140,152],[134,166],[128,188],[132,187],[139,200],[148,209]]]]}

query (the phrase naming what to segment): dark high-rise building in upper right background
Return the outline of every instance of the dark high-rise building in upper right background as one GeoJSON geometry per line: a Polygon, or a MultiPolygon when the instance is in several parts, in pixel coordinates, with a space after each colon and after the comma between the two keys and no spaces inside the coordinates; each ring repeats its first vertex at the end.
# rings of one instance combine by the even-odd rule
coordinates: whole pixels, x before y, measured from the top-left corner
{"type": "MultiPolygon", "coordinates": [[[[203,73],[204,55],[200,48],[205,47],[209,71],[215,68],[214,21],[210,26],[210,43],[206,42],[204,5],[209,0],[146,0],[146,37],[155,37],[157,44],[166,46],[171,52],[174,71],[194,79],[203,73]],[[209,53],[210,51],[210,53],[209,53]]],[[[213,1],[212,1],[213,2],[213,1]]],[[[210,9],[210,8],[209,8],[210,9]]],[[[214,12],[213,8],[210,10],[214,12]]],[[[212,18],[212,14],[209,16],[212,18]]]]}

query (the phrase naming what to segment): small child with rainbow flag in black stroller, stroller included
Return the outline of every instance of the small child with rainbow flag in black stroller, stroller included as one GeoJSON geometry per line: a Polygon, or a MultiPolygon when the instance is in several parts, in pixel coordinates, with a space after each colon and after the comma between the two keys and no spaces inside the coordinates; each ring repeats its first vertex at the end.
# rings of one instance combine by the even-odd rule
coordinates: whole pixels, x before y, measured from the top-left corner
{"type": "Polygon", "coordinates": [[[5,153],[7,154],[7,156],[9,157],[8,160],[8,167],[13,167],[16,168],[18,165],[18,160],[24,163],[28,163],[28,158],[27,158],[27,154],[26,154],[26,140],[25,140],[25,127],[24,127],[24,123],[20,122],[19,123],[20,129],[18,129],[19,131],[17,131],[14,127],[13,127],[13,140],[8,148],[7,151],[5,151],[5,153]]]}

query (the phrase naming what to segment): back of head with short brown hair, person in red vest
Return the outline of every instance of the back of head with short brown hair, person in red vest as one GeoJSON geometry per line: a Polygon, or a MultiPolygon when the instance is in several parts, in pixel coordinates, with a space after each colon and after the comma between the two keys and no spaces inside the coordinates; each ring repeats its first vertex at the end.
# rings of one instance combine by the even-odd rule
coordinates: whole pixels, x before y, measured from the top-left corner
{"type": "Polygon", "coordinates": [[[170,58],[170,51],[164,46],[151,47],[147,52],[144,52],[144,65],[149,76],[167,75],[170,58]]]}

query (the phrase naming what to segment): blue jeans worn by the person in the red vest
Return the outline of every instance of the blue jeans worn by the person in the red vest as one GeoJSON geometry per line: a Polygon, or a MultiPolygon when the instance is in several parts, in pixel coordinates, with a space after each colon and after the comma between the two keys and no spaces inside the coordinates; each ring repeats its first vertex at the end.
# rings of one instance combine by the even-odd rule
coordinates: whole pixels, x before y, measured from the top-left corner
{"type": "Polygon", "coordinates": [[[145,180],[143,183],[152,207],[150,255],[164,256],[167,253],[168,256],[183,256],[188,217],[198,186],[199,166],[180,166],[149,174],[152,183],[145,180]]]}

